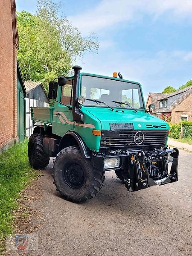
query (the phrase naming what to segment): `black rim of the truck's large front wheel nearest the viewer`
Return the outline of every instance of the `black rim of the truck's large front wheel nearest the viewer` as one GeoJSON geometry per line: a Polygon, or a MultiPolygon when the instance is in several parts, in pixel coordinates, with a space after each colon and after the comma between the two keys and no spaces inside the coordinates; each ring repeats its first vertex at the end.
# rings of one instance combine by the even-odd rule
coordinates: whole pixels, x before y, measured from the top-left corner
{"type": "Polygon", "coordinates": [[[85,183],[85,172],[81,164],[70,161],[63,167],[63,180],[70,188],[81,188],[85,183]]]}

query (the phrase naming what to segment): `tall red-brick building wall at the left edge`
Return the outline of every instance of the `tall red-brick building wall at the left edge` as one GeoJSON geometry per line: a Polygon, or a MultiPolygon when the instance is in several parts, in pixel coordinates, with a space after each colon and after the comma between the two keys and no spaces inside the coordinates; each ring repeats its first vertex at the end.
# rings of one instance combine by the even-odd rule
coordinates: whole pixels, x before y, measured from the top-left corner
{"type": "Polygon", "coordinates": [[[17,50],[15,0],[0,1],[0,151],[17,136],[17,50]]]}

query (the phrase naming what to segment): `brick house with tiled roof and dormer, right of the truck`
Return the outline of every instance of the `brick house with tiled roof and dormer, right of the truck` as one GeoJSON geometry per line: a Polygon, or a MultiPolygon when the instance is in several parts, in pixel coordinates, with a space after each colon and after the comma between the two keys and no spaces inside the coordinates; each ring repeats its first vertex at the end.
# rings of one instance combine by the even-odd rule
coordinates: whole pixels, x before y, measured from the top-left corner
{"type": "Polygon", "coordinates": [[[155,104],[154,116],[171,115],[171,123],[179,124],[181,120],[192,121],[192,86],[172,93],[148,94],[146,108],[155,104]]]}

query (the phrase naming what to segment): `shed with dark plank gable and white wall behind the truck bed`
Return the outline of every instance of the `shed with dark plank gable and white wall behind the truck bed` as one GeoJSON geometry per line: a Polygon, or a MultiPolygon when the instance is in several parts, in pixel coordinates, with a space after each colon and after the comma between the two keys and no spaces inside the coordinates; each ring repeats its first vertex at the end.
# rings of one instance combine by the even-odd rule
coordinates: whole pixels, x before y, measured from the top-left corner
{"type": "Polygon", "coordinates": [[[30,107],[49,107],[49,99],[41,82],[26,81],[26,137],[33,133],[30,107]]]}

